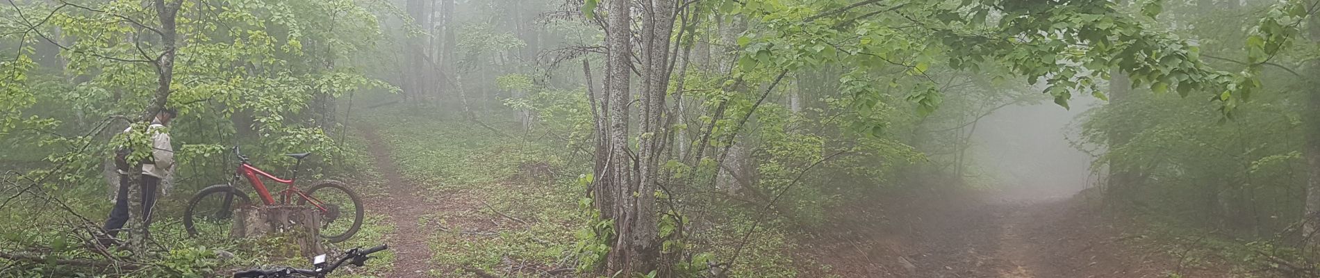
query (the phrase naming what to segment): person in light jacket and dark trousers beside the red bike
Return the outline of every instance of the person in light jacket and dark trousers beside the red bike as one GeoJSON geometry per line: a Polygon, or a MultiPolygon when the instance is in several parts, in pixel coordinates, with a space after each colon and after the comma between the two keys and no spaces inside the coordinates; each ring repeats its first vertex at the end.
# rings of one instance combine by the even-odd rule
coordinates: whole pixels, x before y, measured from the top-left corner
{"type": "MultiPolygon", "coordinates": [[[[152,124],[147,128],[147,134],[152,140],[152,150],[148,159],[139,162],[140,167],[131,165],[128,162],[128,154],[132,150],[121,148],[115,152],[115,166],[119,169],[119,192],[115,196],[115,207],[110,211],[110,219],[106,220],[106,232],[110,237],[115,237],[120,231],[124,229],[124,224],[129,219],[129,191],[132,191],[132,184],[129,184],[128,174],[131,170],[141,171],[141,181],[137,184],[137,191],[141,195],[141,215],[140,221],[150,227],[152,223],[152,207],[156,204],[156,191],[161,184],[161,179],[170,177],[174,166],[174,148],[170,145],[169,133],[165,126],[169,121],[174,119],[177,112],[172,108],[165,108],[156,115],[152,124]]],[[[132,132],[132,126],[124,129],[124,132],[132,132]]]]}

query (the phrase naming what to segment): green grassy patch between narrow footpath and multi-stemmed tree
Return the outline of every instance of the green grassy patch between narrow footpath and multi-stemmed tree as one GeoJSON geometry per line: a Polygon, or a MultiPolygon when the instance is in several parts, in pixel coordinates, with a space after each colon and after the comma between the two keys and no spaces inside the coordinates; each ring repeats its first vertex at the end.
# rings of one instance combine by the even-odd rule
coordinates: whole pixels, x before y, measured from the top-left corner
{"type": "Polygon", "coordinates": [[[573,232],[586,223],[577,211],[585,188],[568,178],[582,169],[566,165],[562,150],[436,113],[393,111],[370,120],[389,141],[407,179],[426,187],[440,202],[462,202],[462,209],[420,220],[438,231],[430,246],[433,260],[444,267],[433,275],[473,277],[463,270],[470,267],[536,277],[532,269],[576,264],[573,232]],[[562,177],[524,175],[524,170],[541,166],[562,177]]]}

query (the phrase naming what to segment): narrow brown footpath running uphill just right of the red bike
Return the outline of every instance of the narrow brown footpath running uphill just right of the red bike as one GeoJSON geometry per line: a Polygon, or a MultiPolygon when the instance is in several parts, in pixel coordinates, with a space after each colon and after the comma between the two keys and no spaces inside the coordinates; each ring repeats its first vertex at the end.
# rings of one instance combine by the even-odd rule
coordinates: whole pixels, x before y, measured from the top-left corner
{"type": "Polygon", "coordinates": [[[399,167],[389,157],[389,148],[385,140],[376,133],[374,126],[362,126],[363,137],[367,138],[368,149],[375,159],[376,169],[385,178],[388,196],[375,198],[367,202],[368,208],[389,215],[395,227],[387,242],[395,253],[393,269],[384,277],[428,277],[434,262],[430,260],[428,236],[418,220],[422,216],[434,213],[434,207],[422,198],[412,182],[399,174],[399,167]]]}

